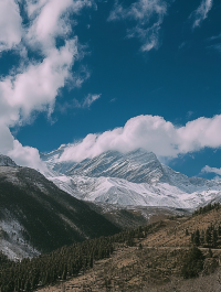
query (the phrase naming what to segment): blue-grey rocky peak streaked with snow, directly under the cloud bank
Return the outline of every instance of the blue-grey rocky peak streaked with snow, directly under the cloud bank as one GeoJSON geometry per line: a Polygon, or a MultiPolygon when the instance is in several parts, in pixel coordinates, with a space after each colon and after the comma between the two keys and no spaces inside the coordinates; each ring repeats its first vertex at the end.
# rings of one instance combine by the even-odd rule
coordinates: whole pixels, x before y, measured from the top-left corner
{"type": "Polygon", "coordinates": [[[143,149],[126,154],[117,151],[107,151],[93,159],[75,162],[57,162],[64,150],[57,149],[49,154],[42,154],[42,160],[50,170],[72,175],[88,177],[119,177],[135,183],[154,183],[164,175],[161,163],[152,152],[143,149]]]}

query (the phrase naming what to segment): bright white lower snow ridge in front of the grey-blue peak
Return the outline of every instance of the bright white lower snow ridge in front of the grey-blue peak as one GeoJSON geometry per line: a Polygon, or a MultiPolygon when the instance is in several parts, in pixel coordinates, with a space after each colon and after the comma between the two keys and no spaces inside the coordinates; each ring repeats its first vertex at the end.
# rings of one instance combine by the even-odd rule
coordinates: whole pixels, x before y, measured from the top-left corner
{"type": "Polygon", "coordinates": [[[116,177],[59,176],[50,180],[80,199],[120,206],[194,208],[221,196],[219,187],[189,194],[167,183],[137,184],[116,177]]]}

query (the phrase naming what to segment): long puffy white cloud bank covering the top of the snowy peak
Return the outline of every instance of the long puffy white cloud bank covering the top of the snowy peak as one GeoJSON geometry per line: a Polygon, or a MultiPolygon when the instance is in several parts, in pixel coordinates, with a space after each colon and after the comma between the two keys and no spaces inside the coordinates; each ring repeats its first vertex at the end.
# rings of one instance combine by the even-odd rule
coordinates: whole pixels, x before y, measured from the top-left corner
{"type": "Polygon", "coordinates": [[[88,134],[81,142],[70,144],[60,161],[80,162],[108,150],[128,152],[137,148],[158,156],[176,158],[180,153],[199,151],[206,147],[221,147],[221,115],[201,117],[183,127],[176,127],[158,116],[138,116],[124,127],[98,134],[88,134]]]}

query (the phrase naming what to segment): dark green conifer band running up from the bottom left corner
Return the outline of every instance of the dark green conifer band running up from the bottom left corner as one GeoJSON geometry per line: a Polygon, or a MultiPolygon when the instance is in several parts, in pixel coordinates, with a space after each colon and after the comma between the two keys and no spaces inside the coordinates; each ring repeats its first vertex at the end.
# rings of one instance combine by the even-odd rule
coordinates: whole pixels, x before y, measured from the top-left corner
{"type": "Polygon", "coordinates": [[[154,227],[157,227],[157,224],[64,246],[50,253],[23,259],[20,262],[9,261],[2,255],[2,261],[0,257],[0,292],[30,292],[39,286],[83,273],[93,268],[94,261],[109,257],[115,244],[133,246],[136,238],[146,237],[154,227]]]}

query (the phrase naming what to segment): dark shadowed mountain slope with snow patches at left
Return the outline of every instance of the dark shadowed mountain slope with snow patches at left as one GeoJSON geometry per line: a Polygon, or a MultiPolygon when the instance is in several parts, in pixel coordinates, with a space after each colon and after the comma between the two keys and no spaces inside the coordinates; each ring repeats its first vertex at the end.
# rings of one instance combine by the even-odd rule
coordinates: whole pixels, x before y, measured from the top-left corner
{"type": "Polygon", "coordinates": [[[0,166],[0,248],[11,258],[119,231],[32,169],[0,166]]]}

